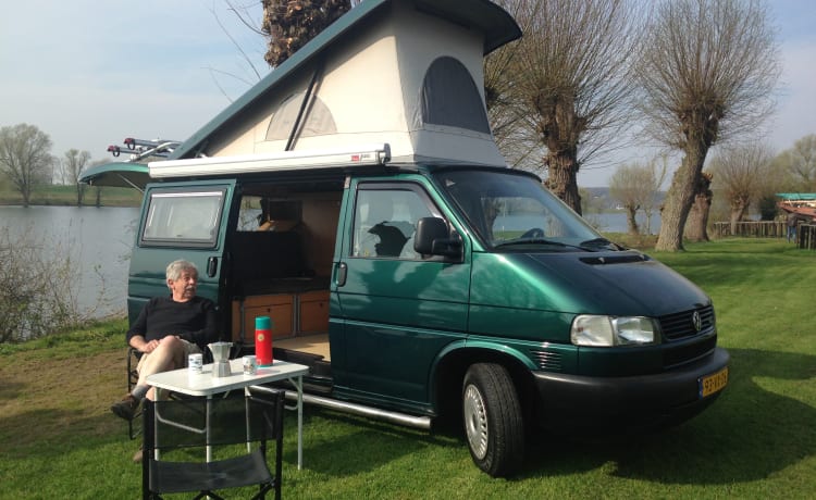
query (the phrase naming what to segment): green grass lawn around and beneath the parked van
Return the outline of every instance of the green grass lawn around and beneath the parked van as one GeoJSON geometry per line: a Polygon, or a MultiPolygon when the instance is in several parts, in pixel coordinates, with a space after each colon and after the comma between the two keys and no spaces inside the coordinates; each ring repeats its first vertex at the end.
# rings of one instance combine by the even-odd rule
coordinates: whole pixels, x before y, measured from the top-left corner
{"type": "MultiPolygon", "coordinates": [[[[729,387],[696,418],[633,439],[542,435],[506,480],[480,473],[460,436],[307,407],[302,471],[296,418],[286,416],[284,496],[813,498],[816,252],[754,239],[687,249],[652,254],[713,297],[732,355],[729,387]]],[[[124,328],[119,321],[0,348],[0,498],[139,496],[137,443],[108,410],[125,390],[124,328]]]]}

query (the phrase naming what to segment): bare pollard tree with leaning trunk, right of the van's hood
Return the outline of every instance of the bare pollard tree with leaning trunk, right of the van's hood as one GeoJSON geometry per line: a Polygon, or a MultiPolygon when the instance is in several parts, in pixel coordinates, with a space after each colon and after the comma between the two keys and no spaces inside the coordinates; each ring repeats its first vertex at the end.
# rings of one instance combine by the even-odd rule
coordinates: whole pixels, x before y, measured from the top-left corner
{"type": "Polygon", "coordinates": [[[638,63],[648,132],[682,151],[658,250],[681,250],[712,146],[754,132],[772,110],[779,55],[761,0],[663,0],[638,63]]]}

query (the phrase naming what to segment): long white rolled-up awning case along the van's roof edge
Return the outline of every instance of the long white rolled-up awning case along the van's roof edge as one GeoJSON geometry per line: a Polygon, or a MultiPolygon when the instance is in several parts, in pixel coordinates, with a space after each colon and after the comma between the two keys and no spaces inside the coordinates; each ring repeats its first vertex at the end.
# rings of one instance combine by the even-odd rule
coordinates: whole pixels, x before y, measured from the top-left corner
{"type": "Polygon", "coordinates": [[[191,158],[150,162],[150,177],[251,174],[305,168],[348,168],[385,165],[391,161],[387,143],[361,145],[332,150],[284,151],[239,157],[191,158]]]}

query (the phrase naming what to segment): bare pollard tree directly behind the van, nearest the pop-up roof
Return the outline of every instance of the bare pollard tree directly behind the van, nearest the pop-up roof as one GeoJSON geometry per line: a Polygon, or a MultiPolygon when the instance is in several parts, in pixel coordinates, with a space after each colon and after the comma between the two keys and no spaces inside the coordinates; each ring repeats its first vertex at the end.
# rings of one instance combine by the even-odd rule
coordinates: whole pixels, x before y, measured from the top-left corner
{"type": "Polygon", "coordinates": [[[509,91],[546,149],[548,187],[581,212],[578,171],[631,123],[630,63],[641,13],[627,0],[505,0],[524,25],[509,91]],[[580,150],[579,150],[580,149],[580,150]]]}

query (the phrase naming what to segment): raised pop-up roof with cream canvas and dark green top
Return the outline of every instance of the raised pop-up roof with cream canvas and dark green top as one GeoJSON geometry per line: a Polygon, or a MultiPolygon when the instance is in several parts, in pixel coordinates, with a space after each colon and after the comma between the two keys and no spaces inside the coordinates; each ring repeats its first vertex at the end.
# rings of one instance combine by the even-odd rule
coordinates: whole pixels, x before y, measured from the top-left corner
{"type": "MultiPolygon", "coordinates": [[[[172,175],[196,158],[371,143],[387,145],[392,163],[504,166],[487,123],[482,63],[520,36],[487,0],[366,0],[182,142],[168,163],[183,168],[172,175]]],[[[101,165],[82,180],[106,185],[120,174],[101,165]]]]}

